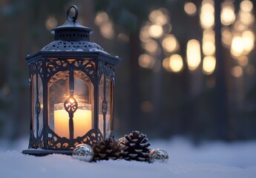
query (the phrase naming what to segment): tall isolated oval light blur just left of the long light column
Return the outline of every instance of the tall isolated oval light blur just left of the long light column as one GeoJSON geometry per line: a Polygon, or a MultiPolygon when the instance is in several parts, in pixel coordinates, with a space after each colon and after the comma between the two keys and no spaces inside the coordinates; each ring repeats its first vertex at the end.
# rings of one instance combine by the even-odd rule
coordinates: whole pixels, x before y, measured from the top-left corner
{"type": "Polygon", "coordinates": [[[200,43],[191,39],[187,44],[187,62],[189,70],[196,70],[201,62],[200,43]]]}

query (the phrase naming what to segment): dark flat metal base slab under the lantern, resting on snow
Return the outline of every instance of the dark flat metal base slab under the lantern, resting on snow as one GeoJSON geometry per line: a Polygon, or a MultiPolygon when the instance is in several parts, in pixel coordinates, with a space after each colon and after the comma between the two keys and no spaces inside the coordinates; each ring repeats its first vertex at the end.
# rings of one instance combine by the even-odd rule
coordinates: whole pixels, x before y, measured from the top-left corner
{"type": "Polygon", "coordinates": [[[49,154],[65,154],[72,155],[73,150],[42,150],[42,149],[27,149],[22,151],[22,154],[28,154],[33,156],[47,156],[49,154]]]}

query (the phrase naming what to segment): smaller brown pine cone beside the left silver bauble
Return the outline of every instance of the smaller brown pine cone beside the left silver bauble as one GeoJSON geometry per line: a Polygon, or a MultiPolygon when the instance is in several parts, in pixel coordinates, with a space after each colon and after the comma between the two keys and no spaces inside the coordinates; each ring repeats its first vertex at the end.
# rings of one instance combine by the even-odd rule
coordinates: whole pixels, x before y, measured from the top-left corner
{"type": "Polygon", "coordinates": [[[94,161],[119,159],[122,147],[119,142],[116,142],[114,138],[109,137],[103,139],[95,145],[93,145],[94,161]]]}

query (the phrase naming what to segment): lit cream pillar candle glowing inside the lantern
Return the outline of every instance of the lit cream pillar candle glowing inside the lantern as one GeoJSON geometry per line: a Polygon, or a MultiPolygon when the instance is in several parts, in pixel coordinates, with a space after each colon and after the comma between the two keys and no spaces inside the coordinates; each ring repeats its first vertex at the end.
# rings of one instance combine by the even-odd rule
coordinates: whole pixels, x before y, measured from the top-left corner
{"type": "MultiPolygon", "coordinates": [[[[78,108],[73,113],[73,137],[84,136],[91,127],[91,105],[78,103],[78,108]]],[[[54,105],[54,132],[69,139],[69,116],[63,103],[54,105]]]]}

